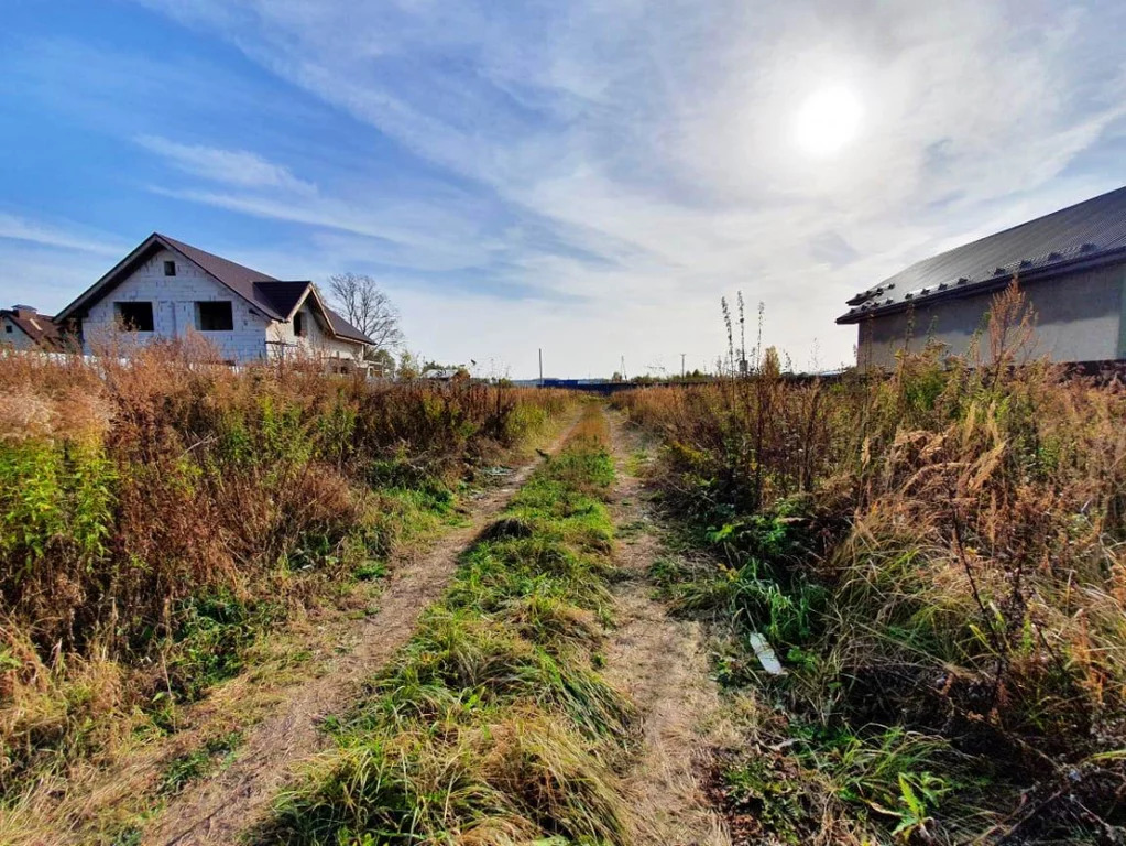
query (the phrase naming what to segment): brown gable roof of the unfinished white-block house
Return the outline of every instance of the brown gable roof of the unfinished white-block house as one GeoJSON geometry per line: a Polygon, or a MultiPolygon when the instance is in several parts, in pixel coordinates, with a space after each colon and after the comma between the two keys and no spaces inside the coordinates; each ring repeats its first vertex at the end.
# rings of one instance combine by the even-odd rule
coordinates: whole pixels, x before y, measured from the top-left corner
{"type": "MultiPolygon", "coordinates": [[[[177,241],[175,238],[169,238],[160,232],[153,232],[128,256],[117,262],[109,273],[82,292],[74,302],[59,312],[56,320],[62,322],[84,313],[91,305],[108,294],[126,275],[136,269],[154,251],[160,249],[171,250],[184,256],[184,258],[195,264],[220,285],[245,300],[270,320],[284,322],[292,319],[294,311],[305,301],[310,292],[316,291],[316,286],[312,282],[277,279],[261,270],[254,270],[245,265],[225,259],[222,256],[200,250],[198,247],[193,247],[184,241],[177,241]]],[[[316,297],[316,302],[324,311],[329,329],[333,335],[360,344],[375,342],[325,305],[319,296],[316,297]]]]}

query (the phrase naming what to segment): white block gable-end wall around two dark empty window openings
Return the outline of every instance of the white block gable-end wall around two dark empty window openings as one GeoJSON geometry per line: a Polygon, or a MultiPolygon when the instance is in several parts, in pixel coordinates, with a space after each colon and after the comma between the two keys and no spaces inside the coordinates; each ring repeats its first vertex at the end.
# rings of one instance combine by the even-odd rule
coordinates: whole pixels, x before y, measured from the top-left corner
{"type": "Polygon", "coordinates": [[[153,255],[91,306],[90,313],[82,320],[86,351],[91,351],[91,340],[105,337],[113,330],[116,320],[114,303],[152,303],[153,331],[131,336],[137,342],[145,344],[154,338],[177,338],[189,330],[196,330],[195,304],[202,301],[231,303],[233,331],[200,332],[218,348],[224,359],[242,363],[266,356],[266,335],[271,321],[196,265],[167,250],[153,255]],[[164,261],[176,261],[176,276],[164,276],[164,261]]]}

